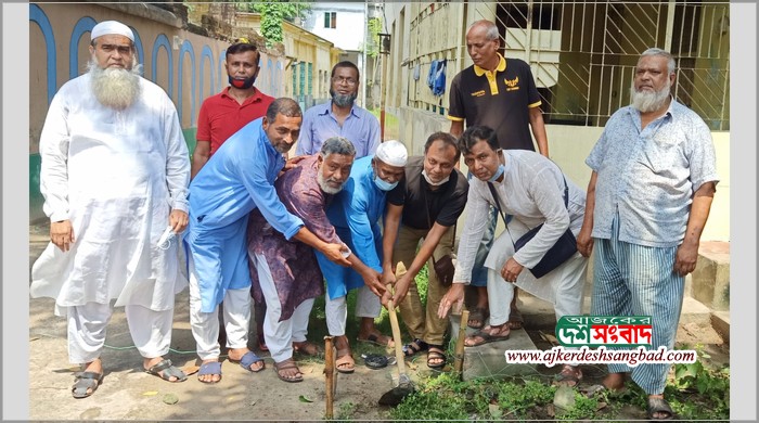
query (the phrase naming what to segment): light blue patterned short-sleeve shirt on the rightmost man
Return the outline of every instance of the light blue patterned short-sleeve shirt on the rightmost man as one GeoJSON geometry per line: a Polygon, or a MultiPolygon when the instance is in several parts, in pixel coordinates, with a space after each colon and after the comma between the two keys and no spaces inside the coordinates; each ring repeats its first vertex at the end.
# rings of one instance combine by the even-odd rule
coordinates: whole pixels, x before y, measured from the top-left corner
{"type": "Polygon", "coordinates": [[[693,193],[718,181],[709,128],[674,100],[643,130],[640,112],[617,111],[586,164],[597,172],[592,236],[610,239],[619,214],[619,241],[652,247],[680,245],[693,193]]]}

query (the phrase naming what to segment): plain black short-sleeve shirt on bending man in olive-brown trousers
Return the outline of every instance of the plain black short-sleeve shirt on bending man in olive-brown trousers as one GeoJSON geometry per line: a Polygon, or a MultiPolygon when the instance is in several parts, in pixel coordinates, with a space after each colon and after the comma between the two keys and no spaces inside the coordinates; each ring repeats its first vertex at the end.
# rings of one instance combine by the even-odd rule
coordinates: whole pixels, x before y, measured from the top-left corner
{"type": "Polygon", "coordinates": [[[410,157],[406,164],[406,178],[401,181],[404,189],[390,191],[387,202],[403,206],[402,222],[410,228],[429,230],[434,222],[453,226],[466,205],[469,190],[466,177],[453,169],[448,182],[432,190],[422,176],[423,169],[423,156],[410,157]]]}

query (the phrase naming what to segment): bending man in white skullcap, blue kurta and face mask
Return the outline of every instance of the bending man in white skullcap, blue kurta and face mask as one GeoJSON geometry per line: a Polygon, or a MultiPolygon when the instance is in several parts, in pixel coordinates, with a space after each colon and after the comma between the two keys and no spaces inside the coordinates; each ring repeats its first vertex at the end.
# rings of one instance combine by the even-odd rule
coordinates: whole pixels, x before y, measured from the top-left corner
{"type": "MultiPolygon", "coordinates": [[[[343,191],[335,195],[326,209],[326,216],[335,226],[337,235],[348,244],[352,253],[380,274],[382,272],[382,233],[380,218],[385,211],[387,192],[395,189],[403,178],[408,153],[399,141],[385,141],[376,154],[357,159],[343,191]]],[[[317,253],[319,266],[326,279],[325,315],[330,335],[335,336],[337,371],[351,373],[355,361],[345,336],[348,307],[346,295],[359,289],[356,316],[361,318],[358,339],[391,346],[389,337],[374,328],[374,318],[380,316],[380,297],[385,291],[382,282],[374,286],[364,284],[364,279],[355,270],[340,268],[317,253]]]]}

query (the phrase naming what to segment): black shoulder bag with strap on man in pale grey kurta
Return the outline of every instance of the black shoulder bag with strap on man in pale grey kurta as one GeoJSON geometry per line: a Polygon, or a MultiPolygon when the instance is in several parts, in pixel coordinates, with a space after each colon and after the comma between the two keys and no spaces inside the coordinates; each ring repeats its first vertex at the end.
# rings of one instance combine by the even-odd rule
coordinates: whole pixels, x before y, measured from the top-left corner
{"type": "MultiPolygon", "coordinates": [[[[509,238],[511,238],[512,244],[514,245],[514,253],[516,253],[523,246],[525,246],[525,244],[527,244],[532,238],[535,238],[538,231],[540,231],[540,228],[543,227],[543,223],[540,223],[539,226],[530,229],[527,233],[525,233],[518,240],[516,240],[516,242],[514,242],[512,233],[511,231],[509,231],[509,221],[503,215],[503,210],[501,210],[501,201],[499,200],[498,193],[496,192],[496,187],[493,187],[492,183],[488,182],[488,188],[490,189],[490,193],[492,194],[493,200],[496,200],[496,207],[498,208],[499,214],[501,214],[503,222],[506,225],[509,238]]],[[[564,207],[567,207],[567,209],[569,209],[569,187],[567,185],[566,178],[564,179],[564,207]]],[[[545,253],[543,258],[537,265],[535,265],[535,267],[529,269],[529,271],[532,272],[532,274],[536,278],[540,279],[551,270],[563,265],[566,260],[569,259],[569,257],[574,256],[576,252],[577,240],[571,233],[571,228],[567,228],[566,232],[564,232],[562,236],[558,240],[556,240],[556,243],[553,244],[553,246],[545,253]]]]}

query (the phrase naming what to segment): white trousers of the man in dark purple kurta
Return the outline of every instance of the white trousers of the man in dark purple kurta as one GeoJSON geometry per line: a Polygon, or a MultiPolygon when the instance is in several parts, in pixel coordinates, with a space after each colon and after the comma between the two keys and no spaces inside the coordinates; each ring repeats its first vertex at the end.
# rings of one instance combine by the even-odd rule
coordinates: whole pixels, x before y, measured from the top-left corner
{"type": "Polygon", "coordinates": [[[258,281],[261,285],[263,299],[266,300],[266,317],[263,318],[263,339],[269,347],[271,358],[275,362],[282,362],[293,357],[293,343],[306,341],[308,334],[308,317],[313,307],[313,298],[300,303],[293,316],[280,321],[282,316],[282,304],[274,285],[274,278],[271,275],[269,265],[262,254],[256,254],[256,269],[258,281]]]}

